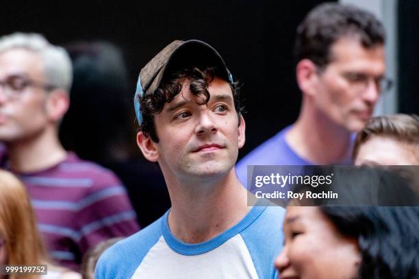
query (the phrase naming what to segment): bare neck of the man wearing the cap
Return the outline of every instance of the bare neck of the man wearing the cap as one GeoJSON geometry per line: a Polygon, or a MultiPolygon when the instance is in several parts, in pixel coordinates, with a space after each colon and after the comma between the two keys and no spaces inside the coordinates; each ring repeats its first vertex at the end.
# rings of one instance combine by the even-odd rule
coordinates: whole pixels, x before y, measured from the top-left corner
{"type": "Polygon", "coordinates": [[[249,212],[247,191],[232,169],[216,182],[168,184],[170,231],[186,243],[202,243],[233,227],[249,212]]]}

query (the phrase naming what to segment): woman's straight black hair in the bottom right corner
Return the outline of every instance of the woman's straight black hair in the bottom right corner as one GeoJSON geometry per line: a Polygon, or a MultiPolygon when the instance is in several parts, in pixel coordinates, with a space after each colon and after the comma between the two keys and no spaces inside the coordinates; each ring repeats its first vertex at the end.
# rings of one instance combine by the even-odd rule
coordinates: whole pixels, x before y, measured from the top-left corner
{"type": "MultiPolygon", "coordinates": [[[[339,198],[311,199],[301,205],[318,206],[337,232],[357,241],[361,260],[357,278],[419,278],[418,167],[333,165],[318,170],[334,174],[332,189],[339,198]]],[[[307,189],[325,191],[302,186],[307,189]]]]}

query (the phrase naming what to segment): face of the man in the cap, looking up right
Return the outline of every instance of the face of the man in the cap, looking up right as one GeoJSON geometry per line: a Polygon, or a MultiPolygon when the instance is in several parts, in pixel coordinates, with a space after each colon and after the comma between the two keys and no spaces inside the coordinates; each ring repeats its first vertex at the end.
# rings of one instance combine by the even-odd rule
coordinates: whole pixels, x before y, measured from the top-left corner
{"type": "Polygon", "coordinates": [[[185,180],[222,177],[233,169],[241,147],[231,88],[216,77],[208,87],[210,101],[203,104],[201,96],[190,93],[188,82],[182,85],[155,117],[160,167],[185,180]]]}

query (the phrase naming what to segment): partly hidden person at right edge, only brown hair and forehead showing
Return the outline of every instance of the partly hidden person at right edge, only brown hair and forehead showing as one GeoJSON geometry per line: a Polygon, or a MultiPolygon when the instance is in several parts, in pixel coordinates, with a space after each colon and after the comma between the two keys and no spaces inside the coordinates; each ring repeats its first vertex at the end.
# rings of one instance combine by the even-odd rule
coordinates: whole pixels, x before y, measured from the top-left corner
{"type": "Polygon", "coordinates": [[[419,165],[419,117],[393,114],[369,119],[353,147],[355,165],[419,165]]]}

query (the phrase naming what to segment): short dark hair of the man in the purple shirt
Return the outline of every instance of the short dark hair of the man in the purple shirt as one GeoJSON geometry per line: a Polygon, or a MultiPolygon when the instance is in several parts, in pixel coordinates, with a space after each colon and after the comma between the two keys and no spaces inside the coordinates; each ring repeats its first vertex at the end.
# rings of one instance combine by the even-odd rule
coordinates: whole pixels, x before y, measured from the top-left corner
{"type": "Polygon", "coordinates": [[[353,5],[324,3],[309,12],[296,32],[296,62],[309,59],[320,69],[331,62],[331,46],[340,38],[354,36],[365,48],[383,45],[385,31],[370,12],[353,5]]]}

